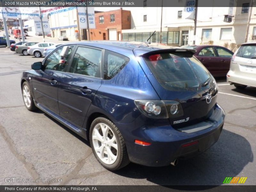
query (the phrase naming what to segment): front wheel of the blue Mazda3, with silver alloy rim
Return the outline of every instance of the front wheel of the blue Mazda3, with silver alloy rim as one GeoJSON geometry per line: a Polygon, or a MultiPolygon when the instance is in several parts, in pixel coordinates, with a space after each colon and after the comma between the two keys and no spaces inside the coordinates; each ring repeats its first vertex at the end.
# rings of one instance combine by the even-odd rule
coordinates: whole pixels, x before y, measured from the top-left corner
{"type": "Polygon", "coordinates": [[[34,100],[33,100],[31,89],[26,81],[22,84],[22,98],[23,98],[25,107],[29,111],[34,111],[37,109],[36,105],[34,103],[34,100]],[[29,102],[29,100],[30,100],[30,102],[29,102]]]}

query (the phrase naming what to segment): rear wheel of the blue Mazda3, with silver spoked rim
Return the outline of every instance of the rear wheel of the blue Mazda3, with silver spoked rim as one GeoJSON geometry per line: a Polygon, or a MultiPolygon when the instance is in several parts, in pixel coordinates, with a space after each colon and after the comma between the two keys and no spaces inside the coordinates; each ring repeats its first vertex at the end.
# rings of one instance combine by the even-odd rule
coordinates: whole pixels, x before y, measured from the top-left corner
{"type": "Polygon", "coordinates": [[[93,120],[89,134],[92,152],[103,167],[115,171],[130,163],[124,138],[113,122],[98,117],[93,120]],[[105,138],[102,130],[107,133],[105,138]]]}

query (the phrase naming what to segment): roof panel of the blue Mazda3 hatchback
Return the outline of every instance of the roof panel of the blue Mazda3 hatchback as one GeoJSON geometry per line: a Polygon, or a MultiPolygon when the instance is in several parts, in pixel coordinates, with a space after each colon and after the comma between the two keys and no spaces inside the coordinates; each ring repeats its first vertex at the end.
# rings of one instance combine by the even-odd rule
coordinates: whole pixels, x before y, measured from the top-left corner
{"type": "Polygon", "coordinates": [[[136,56],[139,56],[148,52],[164,50],[164,49],[191,51],[190,49],[187,49],[187,48],[166,46],[164,44],[158,44],[158,43],[147,44],[144,42],[108,41],[108,40],[73,42],[73,43],[63,44],[63,46],[74,45],[74,44],[98,47],[101,49],[107,49],[109,51],[114,51],[114,52],[123,52],[123,51],[134,52],[134,53],[136,52],[135,54],[136,56]]]}

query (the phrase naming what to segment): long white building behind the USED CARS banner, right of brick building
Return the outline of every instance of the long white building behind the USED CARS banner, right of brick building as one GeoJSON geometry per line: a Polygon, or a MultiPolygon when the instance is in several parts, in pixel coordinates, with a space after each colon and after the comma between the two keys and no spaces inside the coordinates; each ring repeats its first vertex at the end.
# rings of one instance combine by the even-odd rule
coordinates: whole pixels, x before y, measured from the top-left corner
{"type": "MultiPolygon", "coordinates": [[[[156,0],[161,4],[162,0],[156,0]]],[[[184,18],[185,0],[179,0],[180,7],[149,7],[155,0],[145,0],[145,7],[124,8],[131,11],[131,29],[122,30],[123,40],[145,42],[150,34],[156,31],[151,42],[160,42],[161,13],[162,13],[162,41],[161,43],[181,46],[193,44],[194,20],[184,18]],[[183,15],[183,16],[182,16],[183,15]]],[[[197,13],[196,44],[224,45],[225,43],[242,44],[245,42],[247,22],[249,30],[247,40],[256,36],[256,7],[252,7],[250,14],[250,0],[223,0],[233,3],[233,7],[216,7],[217,1],[209,0],[212,7],[199,7],[197,13]],[[229,16],[228,16],[229,15],[229,16]],[[225,17],[232,20],[225,22],[225,17]]],[[[164,1],[165,2],[165,1],[164,1]]],[[[178,0],[177,0],[178,2],[178,0]]],[[[227,19],[228,21],[228,19],[227,19]]]]}

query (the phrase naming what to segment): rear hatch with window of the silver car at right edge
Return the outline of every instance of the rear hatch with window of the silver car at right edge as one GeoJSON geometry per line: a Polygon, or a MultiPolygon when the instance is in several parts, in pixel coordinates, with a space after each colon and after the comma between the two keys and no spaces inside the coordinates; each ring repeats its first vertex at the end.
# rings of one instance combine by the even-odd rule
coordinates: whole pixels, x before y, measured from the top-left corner
{"type": "Polygon", "coordinates": [[[242,45],[232,60],[232,69],[237,75],[255,77],[256,44],[242,45]]]}

